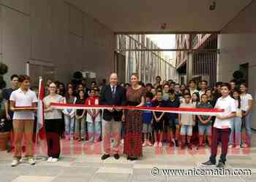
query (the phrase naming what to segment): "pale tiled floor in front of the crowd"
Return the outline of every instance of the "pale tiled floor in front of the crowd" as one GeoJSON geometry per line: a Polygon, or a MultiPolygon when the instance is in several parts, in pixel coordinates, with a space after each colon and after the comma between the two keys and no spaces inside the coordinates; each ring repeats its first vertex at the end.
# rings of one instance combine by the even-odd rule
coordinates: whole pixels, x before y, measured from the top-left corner
{"type": "MultiPolygon", "coordinates": [[[[164,175],[162,169],[200,170],[209,169],[200,166],[209,157],[209,149],[204,151],[180,151],[169,149],[143,149],[143,158],[136,161],[127,161],[125,157],[116,160],[113,157],[102,161],[102,146],[93,146],[89,143],[73,143],[62,141],[62,154],[59,162],[49,164],[45,161],[45,154],[39,151],[37,164],[30,166],[26,162],[17,167],[10,167],[12,155],[6,151],[0,152],[0,182],[50,182],[50,181],[95,181],[95,182],[123,182],[123,181],[255,181],[256,180],[256,136],[253,133],[252,149],[232,150],[227,157],[226,169],[249,169],[252,175],[164,175]],[[153,167],[159,169],[158,175],[152,175],[153,167]]],[[[43,148],[45,149],[45,148],[43,148]]],[[[212,170],[215,167],[210,168],[212,170]]]]}

